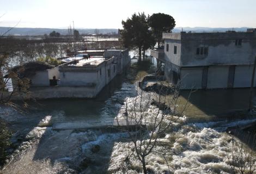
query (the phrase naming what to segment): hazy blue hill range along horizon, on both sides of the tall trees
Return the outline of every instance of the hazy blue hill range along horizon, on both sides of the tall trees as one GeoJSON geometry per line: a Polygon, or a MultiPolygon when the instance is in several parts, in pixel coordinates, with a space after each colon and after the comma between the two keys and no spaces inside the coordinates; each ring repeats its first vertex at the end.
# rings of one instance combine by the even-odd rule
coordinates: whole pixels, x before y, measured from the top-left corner
{"type": "MultiPolygon", "coordinates": [[[[174,33],[181,32],[225,32],[227,30],[235,30],[236,32],[246,32],[248,27],[242,28],[209,28],[209,27],[176,27],[173,29],[174,33]]],[[[5,33],[9,27],[0,27],[0,35],[5,33]]],[[[44,35],[50,34],[53,30],[60,33],[61,35],[68,34],[68,29],[58,29],[58,28],[13,28],[8,32],[8,35],[44,35]]],[[[94,34],[95,29],[77,29],[80,34],[94,34]]],[[[118,29],[98,29],[101,34],[118,33],[118,29]]]]}

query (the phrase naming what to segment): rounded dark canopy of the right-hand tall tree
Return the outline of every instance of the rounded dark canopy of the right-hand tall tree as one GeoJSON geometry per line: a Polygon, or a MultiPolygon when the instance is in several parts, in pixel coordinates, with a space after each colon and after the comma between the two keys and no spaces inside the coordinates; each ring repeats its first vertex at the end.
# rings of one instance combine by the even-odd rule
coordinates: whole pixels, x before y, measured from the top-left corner
{"type": "Polygon", "coordinates": [[[149,17],[149,26],[153,31],[153,34],[157,40],[157,45],[160,47],[160,42],[162,40],[162,33],[163,32],[170,32],[175,27],[175,20],[172,16],[157,13],[153,14],[149,17]]]}

